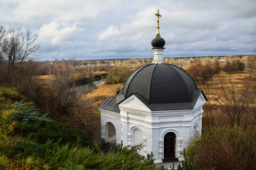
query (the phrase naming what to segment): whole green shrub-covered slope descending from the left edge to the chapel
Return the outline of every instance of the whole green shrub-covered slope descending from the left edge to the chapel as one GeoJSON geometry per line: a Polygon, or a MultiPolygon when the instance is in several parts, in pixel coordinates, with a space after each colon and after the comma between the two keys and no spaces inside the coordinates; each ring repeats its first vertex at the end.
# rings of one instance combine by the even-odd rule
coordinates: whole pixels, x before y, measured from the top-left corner
{"type": "MultiPolygon", "coordinates": [[[[10,89],[1,87],[0,94],[5,90],[10,89]]],[[[15,96],[15,90],[10,92],[15,96]]],[[[0,104],[1,169],[158,169],[153,155],[141,160],[140,145],[96,152],[88,135],[50,120],[32,103],[1,95],[0,104]]]]}

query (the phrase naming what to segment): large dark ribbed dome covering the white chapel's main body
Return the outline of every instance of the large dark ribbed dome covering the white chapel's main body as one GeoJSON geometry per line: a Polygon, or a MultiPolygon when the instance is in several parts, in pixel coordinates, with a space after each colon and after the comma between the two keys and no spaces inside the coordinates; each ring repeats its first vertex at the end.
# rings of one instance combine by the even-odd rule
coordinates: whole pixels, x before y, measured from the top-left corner
{"type": "Polygon", "coordinates": [[[135,70],[124,88],[118,93],[117,103],[139,93],[148,104],[174,104],[192,102],[194,80],[184,70],[167,63],[148,64],[135,70]]]}

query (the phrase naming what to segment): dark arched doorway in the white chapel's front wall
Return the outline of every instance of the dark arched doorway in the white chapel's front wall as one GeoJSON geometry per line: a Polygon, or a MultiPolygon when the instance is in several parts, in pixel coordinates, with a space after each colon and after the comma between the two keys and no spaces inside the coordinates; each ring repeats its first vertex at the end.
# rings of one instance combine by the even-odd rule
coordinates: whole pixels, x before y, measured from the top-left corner
{"type": "Polygon", "coordinates": [[[176,158],[176,134],[169,132],[164,139],[164,159],[163,162],[178,161],[176,158]]]}

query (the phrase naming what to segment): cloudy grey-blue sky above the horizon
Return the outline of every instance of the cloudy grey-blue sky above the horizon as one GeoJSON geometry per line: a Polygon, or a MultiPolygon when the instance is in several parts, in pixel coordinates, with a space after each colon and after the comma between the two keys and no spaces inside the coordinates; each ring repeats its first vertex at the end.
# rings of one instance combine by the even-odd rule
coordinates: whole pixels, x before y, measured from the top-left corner
{"type": "Polygon", "coordinates": [[[41,61],[151,58],[157,9],[164,57],[256,49],[255,0],[1,0],[0,23],[37,34],[41,61]]]}

